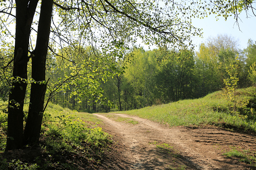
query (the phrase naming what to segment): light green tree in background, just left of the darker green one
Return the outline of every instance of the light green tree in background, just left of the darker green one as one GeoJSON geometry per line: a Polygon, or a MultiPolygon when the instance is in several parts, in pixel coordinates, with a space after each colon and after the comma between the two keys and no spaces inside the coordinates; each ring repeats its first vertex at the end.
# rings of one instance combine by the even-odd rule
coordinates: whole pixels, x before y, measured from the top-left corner
{"type": "Polygon", "coordinates": [[[154,100],[154,77],[157,61],[154,54],[158,50],[145,51],[143,48],[134,48],[131,52],[133,60],[126,63],[124,78],[133,87],[135,108],[152,105],[154,100]]]}

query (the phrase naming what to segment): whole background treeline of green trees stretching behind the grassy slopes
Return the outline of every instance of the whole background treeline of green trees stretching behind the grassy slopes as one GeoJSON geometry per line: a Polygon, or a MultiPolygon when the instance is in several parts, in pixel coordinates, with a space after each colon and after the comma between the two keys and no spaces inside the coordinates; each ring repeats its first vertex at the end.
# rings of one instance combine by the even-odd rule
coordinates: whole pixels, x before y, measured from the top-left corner
{"type": "MultiPolygon", "coordinates": [[[[7,99],[11,84],[10,49],[1,50],[2,100],[7,99]]],[[[256,84],[256,42],[252,40],[244,50],[234,38],[219,35],[196,52],[137,47],[119,54],[96,51],[74,45],[48,55],[48,81],[42,82],[47,84],[46,103],[81,112],[109,112],[199,98],[224,88],[223,79],[230,76],[228,69],[234,63],[238,88],[256,84]]]]}

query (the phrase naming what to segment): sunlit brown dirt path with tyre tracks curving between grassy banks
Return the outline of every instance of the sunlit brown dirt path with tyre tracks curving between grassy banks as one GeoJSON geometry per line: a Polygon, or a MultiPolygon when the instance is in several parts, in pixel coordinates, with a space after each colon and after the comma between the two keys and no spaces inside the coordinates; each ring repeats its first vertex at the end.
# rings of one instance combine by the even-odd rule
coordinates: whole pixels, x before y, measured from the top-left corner
{"type": "Polygon", "coordinates": [[[256,151],[256,136],[216,127],[164,127],[164,125],[124,114],[95,114],[118,143],[111,169],[253,169],[229,159],[225,151],[256,151]],[[124,120],[137,122],[132,124],[124,120]]]}

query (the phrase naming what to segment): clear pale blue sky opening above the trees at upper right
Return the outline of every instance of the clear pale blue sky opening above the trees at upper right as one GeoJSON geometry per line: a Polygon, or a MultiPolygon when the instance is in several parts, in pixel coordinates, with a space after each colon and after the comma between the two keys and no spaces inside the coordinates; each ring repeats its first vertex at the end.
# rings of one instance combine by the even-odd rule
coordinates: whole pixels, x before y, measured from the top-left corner
{"type": "MultiPolygon", "coordinates": [[[[195,27],[203,29],[203,38],[193,38],[194,44],[205,42],[208,37],[216,37],[218,34],[227,34],[239,41],[240,49],[247,47],[248,39],[256,41],[256,17],[246,18],[245,12],[240,15],[239,27],[235,24],[235,20],[230,17],[227,21],[219,18],[216,21],[215,16],[211,15],[205,19],[193,19],[192,24],[195,27]]],[[[198,48],[196,48],[198,49],[198,48]]]]}

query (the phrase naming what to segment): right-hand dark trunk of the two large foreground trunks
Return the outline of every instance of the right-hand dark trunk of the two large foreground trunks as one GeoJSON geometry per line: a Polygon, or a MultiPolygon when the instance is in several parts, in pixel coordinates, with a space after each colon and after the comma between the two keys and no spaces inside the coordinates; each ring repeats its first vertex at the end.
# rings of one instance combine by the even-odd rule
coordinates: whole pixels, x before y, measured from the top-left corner
{"type": "Polygon", "coordinates": [[[32,78],[28,119],[24,131],[25,143],[35,144],[40,136],[46,91],[45,63],[48,51],[53,0],[43,0],[38,23],[37,42],[32,57],[32,78]]]}

